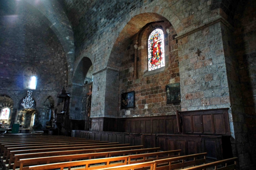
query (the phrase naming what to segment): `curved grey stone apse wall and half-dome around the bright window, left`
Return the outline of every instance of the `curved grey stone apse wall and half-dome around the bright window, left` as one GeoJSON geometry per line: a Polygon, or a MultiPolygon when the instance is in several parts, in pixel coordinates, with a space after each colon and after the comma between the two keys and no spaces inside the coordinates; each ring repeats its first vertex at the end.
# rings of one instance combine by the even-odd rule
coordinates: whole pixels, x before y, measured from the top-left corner
{"type": "Polygon", "coordinates": [[[27,95],[23,88],[26,68],[35,69],[38,75],[32,93],[37,107],[42,107],[48,96],[56,100],[57,92],[67,82],[68,70],[63,47],[45,16],[24,1],[16,9],[16,3],[3,1],[0,10],[0,94],[10,96],[14,102],[12,123],[27,95]]]}

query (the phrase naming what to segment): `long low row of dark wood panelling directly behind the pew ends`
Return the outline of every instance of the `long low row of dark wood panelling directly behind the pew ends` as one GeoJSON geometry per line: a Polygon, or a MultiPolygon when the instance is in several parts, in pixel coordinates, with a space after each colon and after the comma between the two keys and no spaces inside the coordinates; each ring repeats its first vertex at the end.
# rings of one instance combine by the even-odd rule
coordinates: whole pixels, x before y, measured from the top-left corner
{"type": "Polygon", "coordinates": [[[230,136],[141,134],[73,130],[73,137],[119,142],[120,144],[144,145],[144,148],[160,147],[161,151],[181,149],[181,155],[207,152],[207,160],[216,161],[232,157],[230,136]]]}

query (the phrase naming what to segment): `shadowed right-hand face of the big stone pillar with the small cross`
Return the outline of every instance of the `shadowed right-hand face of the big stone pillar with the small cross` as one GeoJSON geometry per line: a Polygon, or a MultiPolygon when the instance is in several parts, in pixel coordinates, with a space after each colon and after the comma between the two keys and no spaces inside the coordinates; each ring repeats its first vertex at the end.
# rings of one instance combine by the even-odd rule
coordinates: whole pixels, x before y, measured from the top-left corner
{"type": "Polygon", "coordinates": [[[223,55],[225,57],[226,73],[230,98],[230,130],[233,156],[238,157],[240,169],[251,166],[250,145],[245,122],[243,95],[239,80],[239,63],[235,56],[235,38],[231,29],[221,23],[223,55]]]}

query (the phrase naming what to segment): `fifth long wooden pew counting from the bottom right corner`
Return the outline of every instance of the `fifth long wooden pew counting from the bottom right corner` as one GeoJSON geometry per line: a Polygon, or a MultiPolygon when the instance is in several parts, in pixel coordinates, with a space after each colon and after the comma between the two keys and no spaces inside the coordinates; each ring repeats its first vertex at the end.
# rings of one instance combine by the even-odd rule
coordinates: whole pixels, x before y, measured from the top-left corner
{"type": "MultiPolygon", "coordinates": [[[[81,149],[81,150],[66,150],[66,151],[56,151],[56,152],[41,152],[41,153],[32,153],[32,154],[18,154],[11,155],[8,169],[11,168],[11,163],[16,165],[18,164],[19,159],[29,159],[29,158],[38,158],[38,157],[50,157],[50,156],[62,156],[62,155],[74,155],[74,154],[85,154],[85,153],[98,153],[98,152],[116,152],[116,151],[126,151],[126,150],[134,150],[136,152],[140,152],[139,148],[142,148],[143,145],[139,146],[129,146],[129,147],[114,147],[114,148],[100,148],[100,149],[81,149]]],[[[150,148],[151,149],[151,148],[150,148]]],[[[157,148],[159,149],[159,148],[157,148]]],[[[144,149],[142,149],[144,150],[144,149]]]]}

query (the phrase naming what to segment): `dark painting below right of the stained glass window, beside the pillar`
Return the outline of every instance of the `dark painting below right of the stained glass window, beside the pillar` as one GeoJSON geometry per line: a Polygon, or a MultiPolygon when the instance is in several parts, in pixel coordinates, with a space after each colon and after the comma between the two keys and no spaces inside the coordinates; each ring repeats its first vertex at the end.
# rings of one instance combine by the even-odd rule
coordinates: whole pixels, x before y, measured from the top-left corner
{"type": "Polygon", "coordinates": [[[166,89],[166,101],[167,103],[181,102],[181,88],[180,83],[169,84],[166,89]]]}

